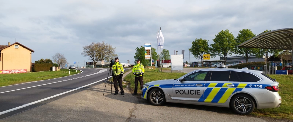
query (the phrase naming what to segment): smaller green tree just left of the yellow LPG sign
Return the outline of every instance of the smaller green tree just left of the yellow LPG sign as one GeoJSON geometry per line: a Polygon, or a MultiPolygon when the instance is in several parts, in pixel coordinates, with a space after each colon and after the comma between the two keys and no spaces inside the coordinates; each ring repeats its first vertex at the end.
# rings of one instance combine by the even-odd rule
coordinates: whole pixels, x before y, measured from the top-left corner
{"type": "Polygon", "coordinates": [[[209,40],[206,39],[195,39],[192,41],[192,46],[188,49],[191,54],[195,58],[199,57],[202,60],[202,66],[203,66],[203,54],[209,54],[209,40]]]}

